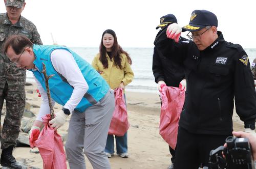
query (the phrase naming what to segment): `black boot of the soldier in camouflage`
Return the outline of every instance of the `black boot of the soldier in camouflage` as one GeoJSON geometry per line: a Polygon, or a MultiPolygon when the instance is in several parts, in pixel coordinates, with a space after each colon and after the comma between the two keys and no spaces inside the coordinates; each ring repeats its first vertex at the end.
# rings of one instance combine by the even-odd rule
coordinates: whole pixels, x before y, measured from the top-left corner
{"type": "Polygon", "coordinates": [[[12,155],[13,147],[10,146],[7,149],[3,149],[1,154],[1,165],[12,167],[14,169],[22,169],[24,168],[21,163],[17,162],[16,159],[12,155]]]}

